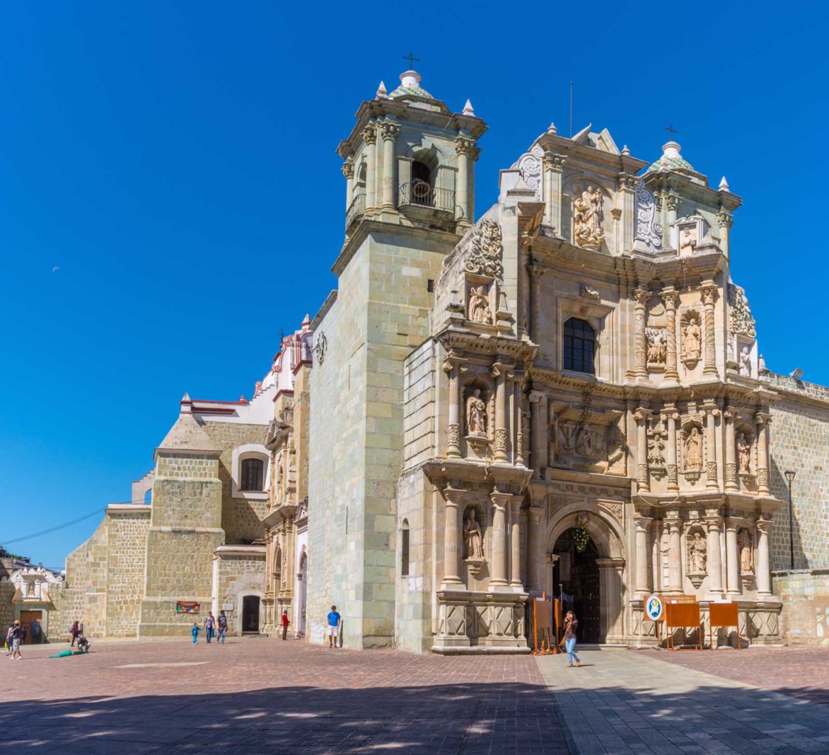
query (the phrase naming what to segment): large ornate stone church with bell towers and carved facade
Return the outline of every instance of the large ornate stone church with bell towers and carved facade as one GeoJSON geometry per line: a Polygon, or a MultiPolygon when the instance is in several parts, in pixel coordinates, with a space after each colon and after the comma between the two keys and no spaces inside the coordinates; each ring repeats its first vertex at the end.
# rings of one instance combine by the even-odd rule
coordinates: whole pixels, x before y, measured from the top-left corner
{"type": "Polygon", "coordinates": [[[337,290],[250,401],[184,397],[60,610],[103,636],[182,633],[182,603],[238,634],[288,611],[322,642],[336,603],[347,647],[521,653],[530,597],[649,645],[657,592],[704,624],[739,602],[744,642],[822,641],[829,389],[765,367],[740,197],[676,142],[652,162],[551,124],[476,215],[486,124],[400,80],[337,150],[337,290]]]}

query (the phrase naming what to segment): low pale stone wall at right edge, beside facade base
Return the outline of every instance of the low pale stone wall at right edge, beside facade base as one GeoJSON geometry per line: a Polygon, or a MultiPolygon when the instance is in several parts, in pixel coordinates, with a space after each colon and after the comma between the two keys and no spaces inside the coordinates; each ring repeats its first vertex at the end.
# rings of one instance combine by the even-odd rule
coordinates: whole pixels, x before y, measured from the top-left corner
{"type": "Polygon", "coordinates": [[[829,646],[829,569],[772,572],[783,601],[781,636],[789,645],[829,646]]]}

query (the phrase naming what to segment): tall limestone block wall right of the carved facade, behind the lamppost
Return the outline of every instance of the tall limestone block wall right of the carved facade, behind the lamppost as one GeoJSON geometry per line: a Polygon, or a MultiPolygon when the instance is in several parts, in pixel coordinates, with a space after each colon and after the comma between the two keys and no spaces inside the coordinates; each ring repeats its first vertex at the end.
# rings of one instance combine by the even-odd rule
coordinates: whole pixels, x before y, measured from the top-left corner
{"type": "Polygon", "coordinates": [[[774,514],[772,567],[788,569],[790,565],[785,470],[797,473],[792,486],[794,567],[829,567],[829,389],[809,383],[801,389],[791,378],[775,377],[786,392],[771,407],[769,482],[772,494],[786,505],[774,514]],[[785,382],[792,383],[800,395],[785,382]]]}

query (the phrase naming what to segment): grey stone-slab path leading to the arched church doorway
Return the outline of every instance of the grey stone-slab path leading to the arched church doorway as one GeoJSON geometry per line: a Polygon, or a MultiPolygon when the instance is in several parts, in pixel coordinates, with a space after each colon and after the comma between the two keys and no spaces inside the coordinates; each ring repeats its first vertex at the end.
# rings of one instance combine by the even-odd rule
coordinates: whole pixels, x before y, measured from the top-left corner
{"type": "MultiPolygon", "coordinates": [[[[737,652],[727,660],[739,662],[737,652]]],[[[762,660],[755,654],[746,650],[739,660],[762,660]]],[[[538,660],[571,749],[579,755],[829,753],[829,708],[688,668],[689,660],[682,665],[660,660],[691,653],[584,650],[579,655],[578,669],[566,668],[562,655],[538,660]]],[[[705,663],[715,670],[731,654],[710,655],[705,663]]]]}

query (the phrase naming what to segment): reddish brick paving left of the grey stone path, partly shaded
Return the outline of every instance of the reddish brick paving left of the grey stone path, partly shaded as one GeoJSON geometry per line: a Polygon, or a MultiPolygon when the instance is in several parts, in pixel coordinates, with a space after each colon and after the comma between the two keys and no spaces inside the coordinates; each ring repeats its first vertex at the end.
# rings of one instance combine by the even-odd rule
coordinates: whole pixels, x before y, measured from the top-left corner
{"type": "Polygon", "coordinates": [[[234,639],[66,645],[0,658],[2,753],[567,755],[529,656],[234,639]],[[198,665],[196,665],[198,664],[198,665]]]}

